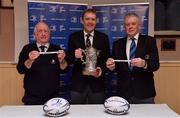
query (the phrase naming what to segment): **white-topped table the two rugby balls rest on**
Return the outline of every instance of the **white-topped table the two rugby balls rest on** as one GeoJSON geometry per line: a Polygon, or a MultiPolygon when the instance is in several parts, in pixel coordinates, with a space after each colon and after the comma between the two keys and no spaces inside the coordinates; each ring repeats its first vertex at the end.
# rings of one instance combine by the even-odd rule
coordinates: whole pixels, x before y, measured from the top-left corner
{"type": "MultiPolygon", "coordinates": [[[[43,106],[2,106],[0,118],[43,118],[43,106]]],[[[62,118],[180,118],[166,104],[131,104],[126,115],[111,115],[103,105],[71,105],[68,114],[62,118]]]]}

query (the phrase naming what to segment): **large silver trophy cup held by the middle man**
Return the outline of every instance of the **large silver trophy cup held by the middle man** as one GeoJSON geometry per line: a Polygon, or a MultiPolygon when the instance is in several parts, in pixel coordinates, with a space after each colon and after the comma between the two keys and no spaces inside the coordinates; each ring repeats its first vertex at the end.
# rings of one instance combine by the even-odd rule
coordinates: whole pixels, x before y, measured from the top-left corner
{"type": "Polygon", "coordinates": [[[82,50],[82,52],[85,54],[85,61],[83,60],[83,64],[85,64],[83,75],[93,75],[96,73],[97,58],[100,51],[93,47],[89,47],[82,50]]]}

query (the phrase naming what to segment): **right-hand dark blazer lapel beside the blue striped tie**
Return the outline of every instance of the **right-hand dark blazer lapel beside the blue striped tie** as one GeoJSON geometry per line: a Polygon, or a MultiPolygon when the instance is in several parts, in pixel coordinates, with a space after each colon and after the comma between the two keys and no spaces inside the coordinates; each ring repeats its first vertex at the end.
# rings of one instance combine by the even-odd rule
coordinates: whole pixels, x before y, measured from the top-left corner
{"type": "Polygon", "coordinates": [[[138,43],[137,43],[137,49],[136,49],[136,56],[135,57],[141,57],[142,51],[144,50],[144,40],[143,36],[139,34],[138,43]]]}

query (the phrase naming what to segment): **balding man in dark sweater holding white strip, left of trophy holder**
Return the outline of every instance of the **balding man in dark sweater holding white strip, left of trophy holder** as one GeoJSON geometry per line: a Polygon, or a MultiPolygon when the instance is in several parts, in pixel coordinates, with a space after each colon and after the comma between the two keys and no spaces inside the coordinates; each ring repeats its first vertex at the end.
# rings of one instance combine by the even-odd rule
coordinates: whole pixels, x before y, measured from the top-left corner
{"type": "Polygon", "coordinates": [[[42,105],[47,100],[58,97],[59,74],[67,67],[65,53],[60,47],[50,44],[50,29],[44,22],[34,28],[35,43],[23,47],[17,70],[24,75],[25,105],[42,105]],[[57,54],[40,54],[58,51],[57,54]]]}

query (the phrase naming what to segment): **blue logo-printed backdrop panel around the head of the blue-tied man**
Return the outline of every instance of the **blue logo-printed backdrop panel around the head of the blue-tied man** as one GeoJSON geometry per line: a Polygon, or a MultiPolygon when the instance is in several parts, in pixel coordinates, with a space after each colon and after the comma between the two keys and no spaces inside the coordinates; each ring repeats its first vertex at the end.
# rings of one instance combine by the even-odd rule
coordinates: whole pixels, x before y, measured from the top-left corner
{"type": "Polygon", "coordinates": [[[148,15],[149,4],[132,5],[96,5],[93,9],[97,11],[97,30],[106,33],[110,38],[110,47],[112,43],[125,36],[123,18],[129,12],[137,13],[142,21],[141,33],[148,34],[148,15]]]}

